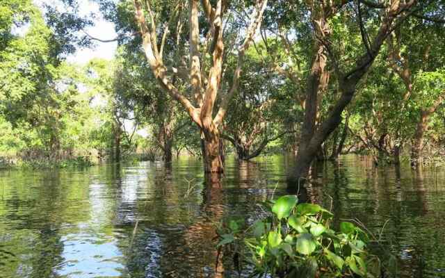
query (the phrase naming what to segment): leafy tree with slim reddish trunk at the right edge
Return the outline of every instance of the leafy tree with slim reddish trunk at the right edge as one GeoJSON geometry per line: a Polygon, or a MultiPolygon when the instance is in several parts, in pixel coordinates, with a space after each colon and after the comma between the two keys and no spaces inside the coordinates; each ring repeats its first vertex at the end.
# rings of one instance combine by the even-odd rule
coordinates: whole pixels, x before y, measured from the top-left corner
{"type": "Polygon", "coordinates": [[[414,166],[422,161],[423,134],[428,129],[428,121],[445,97],[441,71],[444,67],[444,50],[434,43],[444,39],[444,25],[445,22],[412,17],[387,40],[389,66],[405,87],[401,106],[405,108],[414,101],[417,102],[414,107],[419,107],[412,138],[411,163],[414,166]],[[427,34],[422,41],[415,38],[414,33],[419,31],[427,34]]]}

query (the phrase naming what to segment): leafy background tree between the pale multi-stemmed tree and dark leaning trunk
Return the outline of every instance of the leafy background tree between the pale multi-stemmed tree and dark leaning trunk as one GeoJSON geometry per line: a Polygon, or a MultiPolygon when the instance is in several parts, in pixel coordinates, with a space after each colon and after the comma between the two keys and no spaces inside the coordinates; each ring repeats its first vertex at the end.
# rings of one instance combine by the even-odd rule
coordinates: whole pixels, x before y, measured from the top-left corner
{"type": "MultiPolygon", "coordinates": [[[[264,48],[264,45],[255,48],[264,48]]],[[[259,156],[269,142],[293,133],[286,126],[293,97],[280,77],[264,67],[254,49],[248,51],[239,94],[230,101],[222,134],[232,143],[240,160],[259,156]]]]}

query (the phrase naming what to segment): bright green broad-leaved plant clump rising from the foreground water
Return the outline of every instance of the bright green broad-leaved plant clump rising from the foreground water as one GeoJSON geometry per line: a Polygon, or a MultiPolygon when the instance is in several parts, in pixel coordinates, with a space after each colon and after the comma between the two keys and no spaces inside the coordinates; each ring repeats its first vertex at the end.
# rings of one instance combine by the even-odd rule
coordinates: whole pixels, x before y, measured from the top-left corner
{"type": "Polygon", "coordinates": [[[334,231],[330,211],[297,203],[294,195],[266,203],[266,217],[246,229],[242,221],[229,221],[218,229],[219,251],[233,252],[238,270],[241,261],[252,265],[253,276],[380,276],[380,260],[367,251],[365,231],[351,222],[334,231]]]}

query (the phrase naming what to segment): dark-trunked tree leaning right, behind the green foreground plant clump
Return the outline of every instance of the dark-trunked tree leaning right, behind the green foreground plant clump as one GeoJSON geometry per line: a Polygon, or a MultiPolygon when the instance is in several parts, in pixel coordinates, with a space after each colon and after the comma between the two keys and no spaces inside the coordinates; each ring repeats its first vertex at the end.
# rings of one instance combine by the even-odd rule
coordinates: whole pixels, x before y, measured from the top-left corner
{"type": "Polygon", "coordinates": [[[380,5],[382,7],[377,12],[373,12],[373,9],[371,9],[373,7],[370,7],[368,9],[369,17],[377,18],[380,21],[378,26],[373,26],[371,32],[375,35],[373,35],[373,39],[370,39],[369,33],[365,30],[363,24],[362,3],[359,2],[355,6],[355,4],[347,2],[337,5],[322,5],[309,1],[309,11],[312,15],[312,25],[314,27],[315,50],[312,70],[307,77],[305,120],[300,138],[300,149],[296,158],[296,169],[291,174],[292,188],[295,187],[296,181],[307,177],[309,167],[321,144],[339,126],[343,110],[353,99],[359,81],[369,72],[382,44],[394,31],[395,26],[403,24],[406,17],[414,12],[414,8],[421,8],[417,5],[417,1],[403,3],[401,1],[391,1],[388,6],[380,5]],[[353,17],[353,13],[351,13],[355,8],[357,8],[357,17],[353,17]],[[355,22],[359,22],[359,26],[355,22]],[[345,24],[346,26],[352,24],[349,25],[350,31],[352,33],[358,31],[361,35],[362,43],[359,45],[359,49],[364,49],[364,53],[362,51],[362,54],[356,56],[353,50],[346,51],[346,53],[340,52],[342,44],[338,40],[339,38],[345,38],[345,30],[342,29],[345,24]],[[321,81],[324,80],[322,76],[327,65],[327,57],[330,58],[341,95],[332,104],[329,115],[316,127],[316,96],[318,88],[323,85],[321,81]],[[350,63],[350,60],[353,60],[354,63],[350,63]]]}

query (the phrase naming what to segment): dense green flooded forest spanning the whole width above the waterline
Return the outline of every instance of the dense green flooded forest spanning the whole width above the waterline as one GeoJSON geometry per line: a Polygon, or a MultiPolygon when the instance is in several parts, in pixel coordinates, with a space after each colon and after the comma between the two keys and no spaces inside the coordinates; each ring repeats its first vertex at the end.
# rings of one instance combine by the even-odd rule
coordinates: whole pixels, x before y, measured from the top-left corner
{"type": "Polygon", "coordinates": [[[98,3],[118,52],[73,65],[103,39],[75,1],[2,1],[3,164],[175,152],[218,181],[227,152],[284,149],[296,184],[347,152],[413,167],[442,152],[443,1],[98,3]]]}

